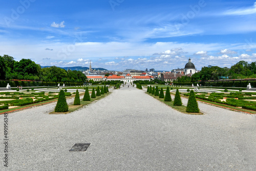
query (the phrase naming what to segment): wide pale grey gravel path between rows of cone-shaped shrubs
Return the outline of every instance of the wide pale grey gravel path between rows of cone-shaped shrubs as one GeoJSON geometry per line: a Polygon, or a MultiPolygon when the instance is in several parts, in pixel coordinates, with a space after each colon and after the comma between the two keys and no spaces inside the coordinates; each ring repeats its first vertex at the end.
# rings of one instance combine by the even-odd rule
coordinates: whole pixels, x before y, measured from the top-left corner
{"type": "Polygon", "coordinates": [[[0,170],[256,170],[255,115],[200,102],[205,115],[186,115],[131,86],[67,115],[55,104],[9,114],[0,170]]]}

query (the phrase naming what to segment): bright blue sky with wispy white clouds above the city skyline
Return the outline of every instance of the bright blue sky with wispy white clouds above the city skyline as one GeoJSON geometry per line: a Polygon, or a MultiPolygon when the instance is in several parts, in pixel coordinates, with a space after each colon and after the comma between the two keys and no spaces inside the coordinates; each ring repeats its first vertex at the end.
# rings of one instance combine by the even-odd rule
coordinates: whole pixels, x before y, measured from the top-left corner
{"type": "Polygon", "coordinates": [[[0,55],[41,66],[170,71],[256,61],[256,1],[4,1],[0,55]]]}

